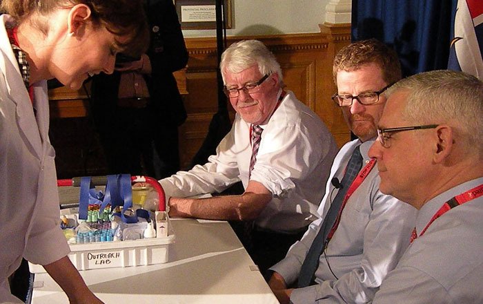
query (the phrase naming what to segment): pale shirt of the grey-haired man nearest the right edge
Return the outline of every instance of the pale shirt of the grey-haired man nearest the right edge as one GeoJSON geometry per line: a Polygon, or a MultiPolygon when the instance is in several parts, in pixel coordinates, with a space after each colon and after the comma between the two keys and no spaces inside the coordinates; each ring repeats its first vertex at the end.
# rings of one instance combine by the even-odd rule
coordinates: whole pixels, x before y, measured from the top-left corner
{"type": "MultiPolygon", "coordinates": [[[[418,234],[451,198],[477,178],[429,200],[417,214],[418,234]]],[[[373,303],[483,303],[483,196],[446,211],[416,238],[388,274],[373,303]]]]}

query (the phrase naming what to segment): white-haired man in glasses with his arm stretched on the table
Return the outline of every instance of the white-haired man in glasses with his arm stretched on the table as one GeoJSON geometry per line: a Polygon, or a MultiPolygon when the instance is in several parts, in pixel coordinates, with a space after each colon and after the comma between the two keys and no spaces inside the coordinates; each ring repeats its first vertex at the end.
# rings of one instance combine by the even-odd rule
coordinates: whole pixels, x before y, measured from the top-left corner
{"type": "Polygon", "coordinates": [[[170,216],[253,221],[244,245],[263,273],[317,218],[337,146],[317,114],[284,90],[280,65],[262,42],[232,44],[220,69],[237,111],[231,131],[206,164],[160,182],[170,216]],[[186,198],[239,181],[238,196],[186,198]]]}

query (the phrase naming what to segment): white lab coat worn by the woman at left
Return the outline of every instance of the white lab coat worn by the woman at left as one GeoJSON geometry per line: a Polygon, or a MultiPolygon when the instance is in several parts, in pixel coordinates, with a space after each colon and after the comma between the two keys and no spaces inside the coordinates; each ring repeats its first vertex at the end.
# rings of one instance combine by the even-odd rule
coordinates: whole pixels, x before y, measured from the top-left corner
{"type": "Polygon", "coordinates": [[[46,265],[69,252],[59,228],[47,84],[34,85],[35,116],[4,26],[10,20],[0,16],[0,302],[15,301],[7,278],[22,256],[46,265]]]}

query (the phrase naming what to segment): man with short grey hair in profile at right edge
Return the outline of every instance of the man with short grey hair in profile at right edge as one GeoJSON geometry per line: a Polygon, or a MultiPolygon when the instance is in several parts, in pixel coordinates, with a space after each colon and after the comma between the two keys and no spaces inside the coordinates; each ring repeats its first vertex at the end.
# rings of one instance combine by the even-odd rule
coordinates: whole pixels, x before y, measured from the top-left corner
{"type": "Polygon", "coordinates": [[[419,211],[373,303],[483,303],[483,82],[438,70],[387,95],[369,155],[381,191],[419,211]]]}

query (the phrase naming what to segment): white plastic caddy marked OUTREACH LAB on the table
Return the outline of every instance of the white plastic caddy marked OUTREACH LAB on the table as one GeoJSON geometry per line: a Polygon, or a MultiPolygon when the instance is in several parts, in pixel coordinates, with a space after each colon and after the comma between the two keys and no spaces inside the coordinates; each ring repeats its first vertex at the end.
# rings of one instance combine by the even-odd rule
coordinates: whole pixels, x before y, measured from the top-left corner
{"type": "MultiPolygon", "coordinates": [[[[139,180],[144,177],[132,177],[139,180]]],[[[157,181],[155,181],[157,183],[157,181]]],[[[159,185],[159,183],[157,183],[159,185]]],[[[159,193],[161,187],[155,187],[159,193]]],[[[162,191],[162,189],[161,189],[162,191]]],[[[68,255],[72,264],[79,270],[98,269],[109,267],[129,267],[140,265],[152,265],[168,262],[168,248],[174,243],[175,234],[170,225],[170,220],[164,211],[164,191],[160,193],[160,207],[163,211],[156,212],[156,238],[144,238],[140,240],[119,240],[111,242],[97,242],[84,244],[71,244],[68,255]],[[162,200],[161,200],[162,194],[162,200]],[[162,202],[162,203],[161,203],[162,202]]],[[[78,211],[77,208],[63,209],[61,215],[71,217],[78,211]]],[[[74,216],[77,216],[75,214],[74,216]]],[[[31,273],[42,273],[46,270],[41,265],[29,263],[31,273]]]]}

